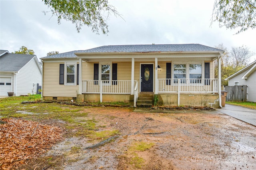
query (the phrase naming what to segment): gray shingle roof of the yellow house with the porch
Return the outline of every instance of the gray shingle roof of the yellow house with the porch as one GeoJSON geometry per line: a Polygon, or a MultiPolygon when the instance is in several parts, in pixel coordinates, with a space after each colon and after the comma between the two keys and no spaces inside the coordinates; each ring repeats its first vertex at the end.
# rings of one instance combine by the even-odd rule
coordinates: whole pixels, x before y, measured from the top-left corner
{"type": "Polygon", "coordinates": [[[72,58],[74,53],[104,53],[104,52],[223,52],[223,50],[201,44],[152,44],[152,45],[110,45],[89,50],[76,50],[44,58],[72,58]]]}

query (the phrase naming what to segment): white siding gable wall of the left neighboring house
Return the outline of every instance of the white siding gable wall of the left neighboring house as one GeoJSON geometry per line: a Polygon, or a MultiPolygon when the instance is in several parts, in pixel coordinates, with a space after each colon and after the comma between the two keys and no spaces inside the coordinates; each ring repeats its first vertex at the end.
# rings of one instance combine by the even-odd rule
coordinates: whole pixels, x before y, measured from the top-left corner
{"type": "Polygon", "coordinates": [[[16,76],[16,96],[36,94],[36,84],[42,84],[42,74],[40,72],[40,68],[36,64],[36,58],[33,58],[28,62],[16,76]],[[34,86],[33,86],[34,84],[34,86]]]}

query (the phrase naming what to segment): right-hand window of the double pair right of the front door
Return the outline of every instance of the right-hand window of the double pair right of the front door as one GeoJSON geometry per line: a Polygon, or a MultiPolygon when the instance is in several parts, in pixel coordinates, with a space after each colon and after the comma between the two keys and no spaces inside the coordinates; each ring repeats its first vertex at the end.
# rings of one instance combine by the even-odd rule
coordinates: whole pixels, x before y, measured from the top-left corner
{"type": "Polygon", "coordinates": [[[189,64],[190,83],[201,83],[202,64],[189,64]]]}

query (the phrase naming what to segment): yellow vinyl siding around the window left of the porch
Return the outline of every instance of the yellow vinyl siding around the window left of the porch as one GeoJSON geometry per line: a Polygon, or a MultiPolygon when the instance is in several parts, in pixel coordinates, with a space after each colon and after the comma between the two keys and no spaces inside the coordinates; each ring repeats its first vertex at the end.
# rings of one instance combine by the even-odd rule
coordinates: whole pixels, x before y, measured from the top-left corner
{"type": "Polygon", "coordinates": [[[43,66],[43,96],[76,97],[79,90],[76,86],[59,84],[60,64],[64,62],[44,62],[43,66]]]}

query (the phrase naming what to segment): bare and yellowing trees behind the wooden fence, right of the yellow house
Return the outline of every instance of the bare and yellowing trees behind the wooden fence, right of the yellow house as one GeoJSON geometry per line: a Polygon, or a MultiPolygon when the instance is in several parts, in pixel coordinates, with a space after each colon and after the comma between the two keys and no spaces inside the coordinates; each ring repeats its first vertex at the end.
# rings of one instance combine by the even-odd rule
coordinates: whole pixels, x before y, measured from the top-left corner
{"type": "MultiPolygon", "coordinates": [[[[232,47],[231,50],[228,50],[223,44],[215,46],[220,50],[225,52],[221,54],[220,67],[221,67],[221,84],[228,86],[228,81],[225,80],[232,74],[238,72],[244,66],[249,64],[250,57],[254,54],[249,51],[249,48],[246,46],[242,47],[232,47]]],[[[218,77],[218,63],[215,60],[214,63],[215,78],[218,77]]]]}

